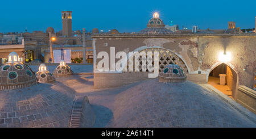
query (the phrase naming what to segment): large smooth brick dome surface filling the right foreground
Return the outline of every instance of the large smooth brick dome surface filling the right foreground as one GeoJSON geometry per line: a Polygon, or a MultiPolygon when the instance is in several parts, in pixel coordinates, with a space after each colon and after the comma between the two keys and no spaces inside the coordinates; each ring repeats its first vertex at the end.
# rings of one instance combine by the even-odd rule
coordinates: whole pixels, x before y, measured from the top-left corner
{"type": "Polygon", "coordinates": [[[216,94],[189,81],[135,83],[115,97],[115,106],[109,127],[256,127],[216,94]]]}

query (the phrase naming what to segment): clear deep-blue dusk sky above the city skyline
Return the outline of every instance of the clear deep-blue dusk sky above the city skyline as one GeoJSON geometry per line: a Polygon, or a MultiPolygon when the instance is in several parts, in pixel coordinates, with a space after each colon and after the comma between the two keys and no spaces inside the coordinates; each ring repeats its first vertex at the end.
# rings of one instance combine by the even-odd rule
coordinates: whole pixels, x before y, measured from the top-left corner
{"type": "Polygon", "coordinates": [[[254,28],[256,1],[6,1],[1,0],[0,32],[60,31],[61,11],[73,11],[72,29],[91,31],[137,32],[146,27],[157,11],[165,24],[193,25],[207,29],[226,29],[228,22],[236,27],[254,28]]]}

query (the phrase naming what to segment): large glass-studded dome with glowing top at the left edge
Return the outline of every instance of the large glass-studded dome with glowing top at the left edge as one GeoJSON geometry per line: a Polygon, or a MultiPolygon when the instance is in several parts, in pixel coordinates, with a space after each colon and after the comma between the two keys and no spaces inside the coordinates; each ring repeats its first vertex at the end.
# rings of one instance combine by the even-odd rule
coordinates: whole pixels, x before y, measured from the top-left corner
{"type": "Polygon", "coordinates": [[[18,54],[11,52],[8,62],[0,67],[0,90],[20,89],[36,84],[36,77],[29,66],[18,61],[18,54]]]}

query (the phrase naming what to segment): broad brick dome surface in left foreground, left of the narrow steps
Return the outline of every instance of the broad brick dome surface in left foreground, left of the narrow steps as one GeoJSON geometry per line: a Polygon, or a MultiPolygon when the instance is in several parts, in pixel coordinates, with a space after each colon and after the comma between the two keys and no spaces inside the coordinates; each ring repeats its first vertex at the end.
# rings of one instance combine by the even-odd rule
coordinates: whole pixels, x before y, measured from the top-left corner
{"type": "Polygon", "coordinates": [[[61,83],[0,91],[0,127],[68,127],[74,94],[61,83]]]}

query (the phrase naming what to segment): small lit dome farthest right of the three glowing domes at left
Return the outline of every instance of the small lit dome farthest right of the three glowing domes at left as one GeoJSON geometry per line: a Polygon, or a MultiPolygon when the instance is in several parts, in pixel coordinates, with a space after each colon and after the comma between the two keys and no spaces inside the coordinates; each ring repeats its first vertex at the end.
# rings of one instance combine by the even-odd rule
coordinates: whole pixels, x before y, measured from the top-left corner
{"type": "Polygon", "coordinates": [[[61,60],[60,65],[53,71],[53,76],[55,77],[67,77],[71,74],[73,74],[73,71],[67,64],[65,64],[64,60],[61,60]]]}

